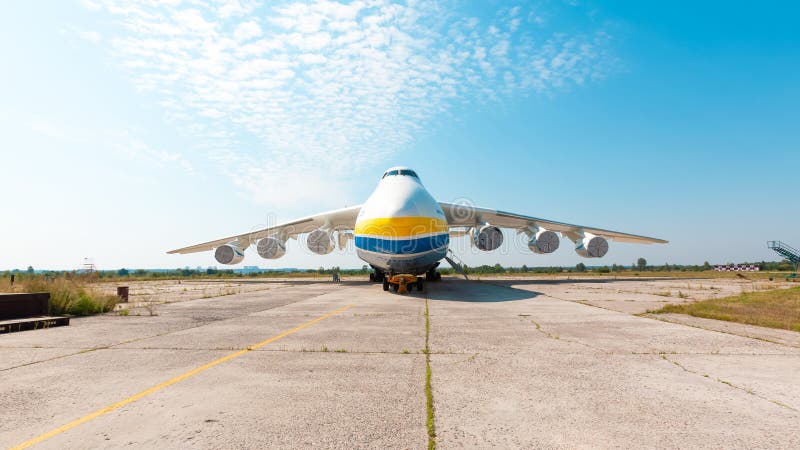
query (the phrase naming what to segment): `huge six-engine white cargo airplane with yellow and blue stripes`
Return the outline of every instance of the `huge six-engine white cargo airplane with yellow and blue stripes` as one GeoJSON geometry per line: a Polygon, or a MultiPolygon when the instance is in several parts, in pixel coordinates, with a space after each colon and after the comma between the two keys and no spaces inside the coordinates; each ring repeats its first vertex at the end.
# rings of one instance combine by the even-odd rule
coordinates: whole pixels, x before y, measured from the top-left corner
{"type": "Polygon", "coordinates": [[[469,236],[475,248],[492,251],[503,243],[501,228],[516,230],[528,238],[534,253],[552,253],[559,236],[575,244],[584,258],[600,258],[608,252],[608,241],[665,244],[667,241],[600,228],[572,225],[494,209],[458,203],[437,202],[425,189],[416,172],[392,167],[384,172],[378,186],[363,205],[329,211],[282,223],[263,230],[226,237],[168,253],[215,250],[220,264],[237,264],[244,251],[255,245],[262,258],[277,259],[286,253],[286,242],[307,234],[306,246],[318,255],[333,251],[334,243],[344,249],[355,241],[358,257],[374,272],[370,280],[383,282],[383,289],[402,288],[408,283],[419,290],[423,278],[437,280],[442,259],[459,270],[448,256],[451,237],[469,236]],[[411,284],[413,283],[413,284],[411,284]]]}

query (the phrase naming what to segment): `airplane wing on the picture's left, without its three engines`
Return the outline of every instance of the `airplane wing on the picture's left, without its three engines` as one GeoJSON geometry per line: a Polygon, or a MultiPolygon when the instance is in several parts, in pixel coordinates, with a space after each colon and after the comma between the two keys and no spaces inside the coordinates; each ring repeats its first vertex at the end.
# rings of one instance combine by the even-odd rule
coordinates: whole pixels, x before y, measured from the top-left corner
{"type": "Polygon", "coordinates": [[[349,208],[337,209],[335,211],[328,211],[314,216],[303,217],[302,219],[284,222],[272,227],[264,228],[261,230],[251,231],[249,233],[237,234],[222,239],[216,239],[202,244],[192,245],[190,247],[179,248],[170,250],[167,253],[196,253],[213,250],[220,245],[228,244],[231,242],[238,242],[241,248],[246,248],[250,244],[254,244],[259,239],[267,236],[274,236],[282,234],[286,237],[296,237],[298,234],[310,233],[320,227],[328,227],[331,230],[352,230],[356,224],[358,212],[361,211],[361,205],[351,206],[349,208]]]}

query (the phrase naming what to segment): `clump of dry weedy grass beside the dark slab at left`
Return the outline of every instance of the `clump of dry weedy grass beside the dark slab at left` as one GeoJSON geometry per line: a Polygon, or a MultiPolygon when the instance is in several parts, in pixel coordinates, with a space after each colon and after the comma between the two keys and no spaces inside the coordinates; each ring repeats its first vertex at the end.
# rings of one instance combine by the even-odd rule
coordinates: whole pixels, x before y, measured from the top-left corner
{"type": "Polygon", "coordinates": [[[119,302],[116,295],[101,294],[81,279],[31,277],[20,280],[11,292],[47,292],[50,294],[50,314],[61,316],[90,316],[112,311],[119,302]]]}

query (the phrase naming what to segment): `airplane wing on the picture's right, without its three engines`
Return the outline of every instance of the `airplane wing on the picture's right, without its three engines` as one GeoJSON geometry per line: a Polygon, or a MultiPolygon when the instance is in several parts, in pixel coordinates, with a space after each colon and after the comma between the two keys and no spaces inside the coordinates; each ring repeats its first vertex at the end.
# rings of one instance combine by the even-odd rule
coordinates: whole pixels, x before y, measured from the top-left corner
{"type": "Polygon", "coordinates": [[[512,228],[520,231],[526,230],[529,227],[541,227],[550,231],[559,232],[572,240],[581,237],[583,233],[586,232],[613,239],[616,242],[628,242],[633,244],[666,244],[668,242],[663,239],[639,236],[636,234],[540,219],[538,217],[524,216],[522,214],[498,211],[495,209],[478,208],[468,204],[440,202],[439,206],[442,207],[442,212],[444,212],[447,217],[447,222],[450,227],[478,227],[484,223],[490,223],[499,228],[512,228]]]}

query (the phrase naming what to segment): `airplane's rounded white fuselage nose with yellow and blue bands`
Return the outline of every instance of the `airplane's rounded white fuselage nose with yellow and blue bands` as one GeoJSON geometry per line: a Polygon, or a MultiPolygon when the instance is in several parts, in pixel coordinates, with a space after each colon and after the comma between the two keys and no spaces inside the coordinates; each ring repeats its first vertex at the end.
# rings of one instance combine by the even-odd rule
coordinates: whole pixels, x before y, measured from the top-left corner
{"type": "Polygon", "coordinates": [[[387,172],[356,220],[358,257],[388,274],[425,273],[449,242],[442,208],[415,175],[387,172]]]}

